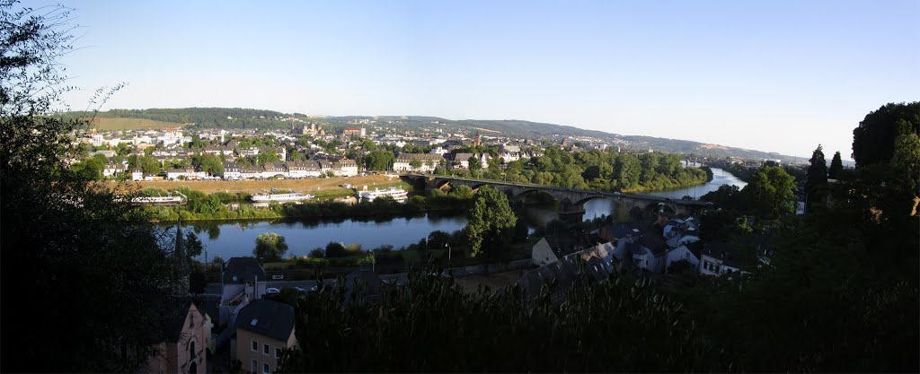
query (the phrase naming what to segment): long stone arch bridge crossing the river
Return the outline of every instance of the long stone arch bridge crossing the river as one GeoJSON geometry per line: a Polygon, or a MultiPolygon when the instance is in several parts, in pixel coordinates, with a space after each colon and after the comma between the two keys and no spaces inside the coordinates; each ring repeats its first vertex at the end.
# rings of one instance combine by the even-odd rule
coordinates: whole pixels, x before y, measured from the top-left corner
{"type": "Polygon", "coordinates": [[[647,211],[656,207],[666,208],[678,214],[695,214],[701,210],[712,207],[711,203],[697,200],[681,200],[661,198],[641,194],[624,194],[620,192],[592,191],[587,189],[572,189],[563,187],[549,187],[528,183],[502,182],[486,179],[461,178],[457,176],[434,176],[422,174],[404,174],[403,180],[416,188],[425,188],[428,193],[432,189],[444,186],[467,186],[476,190],[479,187],[491,186],[507,194],[512,200],[536,192],[543,192],[559,201],[559,216],[564,220],[581,221],[584,215],[584,203],[593,198],[613,198],[617,204],[627,210],[639,208],[647,211]]]}

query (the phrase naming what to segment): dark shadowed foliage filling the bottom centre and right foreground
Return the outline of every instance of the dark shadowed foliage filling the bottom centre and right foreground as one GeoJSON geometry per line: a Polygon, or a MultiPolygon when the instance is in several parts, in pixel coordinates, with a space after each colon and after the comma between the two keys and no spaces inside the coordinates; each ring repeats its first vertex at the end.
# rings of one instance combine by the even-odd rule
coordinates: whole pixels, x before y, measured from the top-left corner
{"type": "Polygon", "coordinates": [[[834,205],[778,218],[776,256],[751,275],[581,278],[558,305],[552,285],[528,300],[440,277],[411,278],[379,302],[323,289],[291,301],[303,349],[282,367],[916,372],[920,221],[906,214],[909,189],[880,183],[885,170],[857,176],[829,191],[834,205]]]}

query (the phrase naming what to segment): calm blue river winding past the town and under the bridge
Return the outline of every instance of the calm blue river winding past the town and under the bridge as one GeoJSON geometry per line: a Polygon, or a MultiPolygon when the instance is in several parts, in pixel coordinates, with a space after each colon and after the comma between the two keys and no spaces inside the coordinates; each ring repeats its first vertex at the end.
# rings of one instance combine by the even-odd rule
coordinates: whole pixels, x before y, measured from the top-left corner
{"type": "MultiPolygon", "coordinates": [[[[713,179],[706,184],[670,191],[650,192],[646,195],[664,198],[683,198],[684,196],[700,197],[709,191],[715,191],[719,186],[728,184],[744,187],[742,182],[730,173],[718,168],[712,169],[713,179]]],[[[628,212],[619,209],[611,198],[596,198],[584,204],[585,220],[592,220],[603,215],[615,215],[618,221],[626,221],[628,212]]],[[[545,225],[547,221],[558,217],[555,204],[544,203],[526,207],[527,216],[524,218],[533,230],[536,226],[545,225]]],[[[443,216],[425,214],[418,217],[394,218],[387,220],[326,220],[326,221],[201,221],[190,224],[190,228],[198,232],[201,243],[204,244],[208,259],[220,255],[225,259],[234,256],[252,255],[256,245],[256,237],[264,232],[275,232],[287,241],[289,246],[287,255],[306,255],[316,247],[326,247],[329,242],[344,244],[361,244],[363,249],[373,249],[380,245],[393,245],[394,248],[419,241],[435,231],[455,232],[466,225],[466,217],[443,216]]],[[[201,255],[204,260],[205,255],[201,255]]]]}

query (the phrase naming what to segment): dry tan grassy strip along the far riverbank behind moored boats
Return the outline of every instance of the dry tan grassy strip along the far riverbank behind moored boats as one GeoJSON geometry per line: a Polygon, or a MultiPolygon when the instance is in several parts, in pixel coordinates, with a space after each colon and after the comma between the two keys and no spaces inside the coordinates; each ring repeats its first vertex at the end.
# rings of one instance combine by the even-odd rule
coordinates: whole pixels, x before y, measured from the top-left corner
{"type": "MultiPolygon", "coordinates": [[[[398,176],[333,176],[328,178],[305,178],[305,179],[270,179],[270,180],[157,180],[142,182],[109,182],[109,187],[120,187],[122,190],[141,190],[147,187],[156,187],[163,190],[171,190],[180,186],[189,187],[196,191],[207,194],[214,192],[247,192],[262,193],[272,188],[281,191],[293,190],[294,192],[310,193],[319,197],[328,195],[339,195],[334,191],[351,188],[341,187],[350,184],[351,187],[361,190],[364,186],[369,189],[374,187],[397,186],[401,183],[398,176]]],[[[352,192],[353,193],[353,192],[352,192]]],[[[347,194],[345,194],[347,195],[347,194]]]]}

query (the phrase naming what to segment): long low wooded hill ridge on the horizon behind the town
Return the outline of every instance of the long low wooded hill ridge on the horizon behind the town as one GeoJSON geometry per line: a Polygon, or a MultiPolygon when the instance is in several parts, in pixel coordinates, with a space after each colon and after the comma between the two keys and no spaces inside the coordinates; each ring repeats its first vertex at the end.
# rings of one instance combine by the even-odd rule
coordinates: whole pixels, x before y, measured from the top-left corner
{"type": "MultiPolygon", "coordinates": [[[[68,117],[88,118],[92,113],[71,112],[68,117]]],[[[323,124],[328,130],[339,130],[356,126],[354,122],[373,119],[377,125],[406,130],[443,129],[452,132],[480,131],[486,136],[501,135],[519,139],[541,139],[561,142],[567,137],[590,137],[627,149],[652,150],[666,153],[696,154],[709,157],[742,157],[747,159],[773,159],[792,162],[795,157],[742,148],[690,142],[676,139],[654,138],[650,136],[619,135],[598,130],[584,130],[573,126],[553,123],[531,122],[519,119],[442,119],[425,116],[307,116],[305,114],[287,114],[273,110],[247,108],[152,108],[152,109],[112,109],[96,113],[100,130],[134,130],[154,128],[155,126],[176,127],[189,126],[191,129],[289,129],[293,125],[290,119],[308,120],[323,124]],[[146,121],[138,121],[145,119],[146,121]],[[119,126],[122,126],[121,128],[119,126]],[[433,128],[432,128],[433,126],[433,128]]],[[[799,160],[801,162],[802,160],[799,160]]]]}

